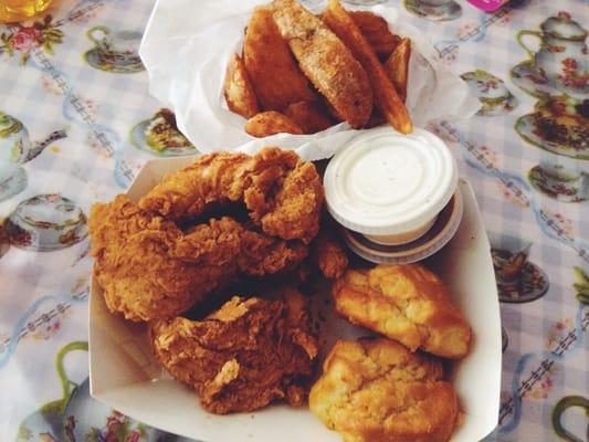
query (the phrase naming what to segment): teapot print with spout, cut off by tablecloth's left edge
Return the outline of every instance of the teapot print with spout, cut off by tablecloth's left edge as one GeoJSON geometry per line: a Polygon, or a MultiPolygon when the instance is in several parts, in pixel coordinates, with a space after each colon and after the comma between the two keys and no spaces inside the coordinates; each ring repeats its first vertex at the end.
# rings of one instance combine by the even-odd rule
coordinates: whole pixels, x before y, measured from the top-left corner
{"type": "Polygon", "coordinates": [[[27,171],[21,165],[66,136],[65,130],[55,130],[42,141],[31,141],[22,122],[0,110],[0,201],[20,193],[27,187],[27,171]]]}

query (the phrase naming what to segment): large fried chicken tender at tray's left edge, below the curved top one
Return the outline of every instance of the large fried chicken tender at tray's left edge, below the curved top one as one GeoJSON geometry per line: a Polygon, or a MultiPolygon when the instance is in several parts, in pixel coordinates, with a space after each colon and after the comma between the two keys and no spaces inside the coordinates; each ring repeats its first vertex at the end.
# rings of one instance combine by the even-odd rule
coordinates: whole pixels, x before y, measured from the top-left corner
{"type": "Polygon", "coordinates": [[[94,204],[88,227],[106,305],[135,322],[179,315],[238,273],[288,271],[307,254],[298,241],[251,232],[228,217],[185,233],[123,194],[94,204]]]}

